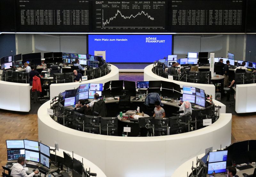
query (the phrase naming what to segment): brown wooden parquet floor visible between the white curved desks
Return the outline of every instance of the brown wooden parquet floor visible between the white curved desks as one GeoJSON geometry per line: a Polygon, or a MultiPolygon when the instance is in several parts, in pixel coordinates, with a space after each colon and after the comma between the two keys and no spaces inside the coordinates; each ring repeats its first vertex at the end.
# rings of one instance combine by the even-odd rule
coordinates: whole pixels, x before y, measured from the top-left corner
{"type": "MultiPolygon", "coordinates": [[[[121,73],[121,80],[143,81],[141,73],[121,73]]],[[[232,116],[231,143],[256,139],[256,114],[232,116]]],[[[0,165],[7,161],[6,139],[25,139],[38,141],[36,114],[17,114],[12,111],[0,110],[0,165]]]]}

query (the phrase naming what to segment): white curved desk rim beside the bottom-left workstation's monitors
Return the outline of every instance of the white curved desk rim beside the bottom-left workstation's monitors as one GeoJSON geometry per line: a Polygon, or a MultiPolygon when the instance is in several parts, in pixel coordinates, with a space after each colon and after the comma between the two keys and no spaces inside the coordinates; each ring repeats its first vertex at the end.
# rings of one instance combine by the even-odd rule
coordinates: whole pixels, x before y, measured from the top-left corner
{"type": "MultiPolygon", "coordinates": [[[[42,141],[42,143],[44,143],[42,141]]],[[[54,144],[52,144],[54,145],[54,144]]],[[[51,149],[54,149],[54,147],[50,147],[51,149]]],[[[66,150],[63,150],[63,149],[59,149],[59,151],[56,151],[56,155],[59,156],[59,157],[64,157],[63,156],[63,151],[70,154],[70,156],[72,157],[72,152],[69,152],[69,151],[66,151],[66,150]]],[[[94,163],[92,163],[90,160],[87,160],[86,158],[80,156],[80,155],[77,155],[76,154],[76,151],[73,151],[74,152],[74,158],[77,159],[77,160],[80,160],[82,162],[82,159],[83,159],[83,164],[84,164],[84,169],[87,168],[87,171],[89,171],[89,168],[91,168],[91,172],[92,173],[97,173],[97,176],[102,176],[102,177],[106,177],[106,175],[102,172],[102,170],[96,166],[94,163]]],[[[51,151],[51,154],[54,154],[55,155],[55,152],[52,152],[51,151]]],[[[54,160],[53,160],[54,161],[54,160]]]]}

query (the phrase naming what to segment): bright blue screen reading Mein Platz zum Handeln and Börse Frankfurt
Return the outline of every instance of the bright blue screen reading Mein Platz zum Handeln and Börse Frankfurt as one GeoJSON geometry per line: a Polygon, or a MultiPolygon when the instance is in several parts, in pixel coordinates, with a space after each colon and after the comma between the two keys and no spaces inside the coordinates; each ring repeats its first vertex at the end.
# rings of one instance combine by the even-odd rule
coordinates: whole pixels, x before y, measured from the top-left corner
{"type": "Polygon", "coordinates": [[[106,62],[154,62],[172,51],[172,35],[89,34],[88,47],[106,51],[106,62]]]}

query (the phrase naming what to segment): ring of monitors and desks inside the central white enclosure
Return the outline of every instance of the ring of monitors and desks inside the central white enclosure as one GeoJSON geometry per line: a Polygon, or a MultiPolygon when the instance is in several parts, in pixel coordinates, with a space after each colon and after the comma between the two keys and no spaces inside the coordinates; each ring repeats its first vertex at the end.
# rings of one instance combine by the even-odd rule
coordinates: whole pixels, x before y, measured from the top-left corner
{"type": "MultiPolygon", "coordinates": [[[[173,96],[175,95],[177,96],[177,102],[175,103],[176,107],[179,107],[178,99],[181,99],[182,101],[190,102],[193,105],[193,109],[191,111],[192,114],[190,111],[188,111],[188,113],[182,116],[176,114],[176,116],[172,115],[173,117],[171,117],[171,115],[166,116],[167,118],[141,117],[136,120],[128,117],[128,120],[130,120],[128,121],[128,124],[134,123],[129,124],[129,126],[133,126],[132,131],[135,132],[132,136],[146,136],[149,133],[151,133],[152,136],[162,136],[193,131],[204,127],[204,119],[211,120],[211,123],[214,123],[219,117],[218,111],[215,111],[214,104],[212,102],[207,102],[207,96],[205,95],[203,89],[183,86],[183,94],[182,97],[180,97],[180,86],[172,82],[138,81],[137,88],[139,89],[139,95],[141,95],[142,90],[148,88],[149,95],[150,93],[155,92],[155,95],[160,99],[159,94],[156,93],[159,91],[160,94],[162,93],[161,95],[164,96],[163,100],[167,101],[171,101],[173,99],[173,96]],[[151,86],[153,87],[152,90],[149,88],[151,86]],[[160,91],[160,88],[162,88],[162,91],[160,91]],[[176,94],[176,92],[178,94],[176,94]],[[170,96],[172,96],[172,98],[170,98],[170,96]],[[194,107],[195,104],[197,105],[197,107],[194,107]]],[[[147,94],[147,91],[144,93],[147,94]]],[[[122,130],[124,126],[122,124],[123,121],[121,120],[122,115],[119,117],[119,119],[117,119],[118,116],[116,115],[119,114],[119,111],[125,113],[125,111],[127,112],[128,109],[132,109],[132,107],[130,107],[131,102],[133,104],[139,102],[144,103],[144,107],[141,106],[141,111],[146,112],[147,110],[149,110],[149,114],[152,114],[152,111],[155,108],[154,103],[151,103],[147,106],[147,97],[143,97],[145,101],[143,101],[144,99],[140,101],[140,97],[134,98],[134,96],[136,96],[136,88],[135,82],[132,81],[109,81],[105,83],[104,89],[103,84],[100,83],[81,84],[78,88],[66,90],[65,92],[60,93],[59,96],[56,96],[52,99],[51,109],[54,110],[54,115],[52,115],[52,119],[54,119],[59,124],[79,131],[102,135],[121,136],[123,134],[122,130]],[[127,84],[129,86],[127,86],[127,84]],[[85,100],[84,106],[86,106],[86,104],[90,103],[88,99],[93,99],[95,93],[98,93],[99,98],[103,96],[103,101],[101,100],[94,103],[91,111],[88,111],[89,109],[91,109],[90,107],[86,108],[83,113],[78,113],[74,110],[74,107],[79,100],[85,100]],[[115,96],[115,98],[109,97],[108,94],[110,96],[115,96]],[[111,103],[119,102],[120,106],[120,104],[124,102],[124,100],[122,100],[123,98],[128,98],[128,100],[125,100],[127,107],[122,107],[119,110],[116,110],[115,108],[110,108],[108,109],[108,111],[103,111],[104,114],[99,114],[98,110],[94,109],[95,104],[104,101],[106,101],[106,104],[104,102],[104,104],[101,105],[110,105],[111,103]],[[105,112],[107,113],[105,114],[105,112]],[[115,116],[110,117],[109,115],[115,116]]],[[[167,101],[165,101],[165,104],[169,104],[169,102],[167,101]]],[[[138,105],[136,104],[136,106],[138,105]]],[[[167,106],[173,105],[170,104],[167,106]]],[[[116,105],[114,107],[116,107],[116,105]]],[[[106,106],[102,106],[100,109],[106,109],[106,106]]],[[[166,112],[168,112],[168,110],[166,112]]]]}

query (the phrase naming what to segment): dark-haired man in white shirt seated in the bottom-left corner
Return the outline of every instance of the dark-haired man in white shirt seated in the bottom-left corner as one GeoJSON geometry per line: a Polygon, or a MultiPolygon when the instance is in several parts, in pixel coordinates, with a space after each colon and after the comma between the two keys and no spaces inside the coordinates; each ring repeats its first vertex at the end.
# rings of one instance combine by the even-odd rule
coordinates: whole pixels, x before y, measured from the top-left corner
{"type": "Polygon", "coordinates": [[[39,173],[37,170],[29,175],[27,175],[25,168],[23,167],[26,164],[25,157],[19,157],[18,163],[15,163],[12,166],[11,176],[12,177],[33,177],[35,174],[39,173]]]}

